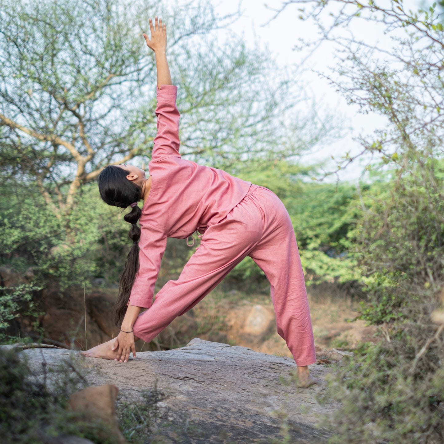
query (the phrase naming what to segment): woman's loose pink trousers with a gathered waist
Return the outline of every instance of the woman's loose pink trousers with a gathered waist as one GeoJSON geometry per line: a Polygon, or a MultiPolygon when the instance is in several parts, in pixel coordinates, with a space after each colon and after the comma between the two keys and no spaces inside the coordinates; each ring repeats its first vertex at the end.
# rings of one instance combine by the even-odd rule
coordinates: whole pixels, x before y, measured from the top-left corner
{"type": "Polygon", "coordinates": [[[209,224],[198,250],[177,281],[168,281],[134,325],[135,336],[151,341],[175,317],[205,297],[246,256],[271,284],[277,333],[297,365],[316,362],[304,274],[294,230],[283,203],[270,190],[252,185],[217,224],[209,224]]]}

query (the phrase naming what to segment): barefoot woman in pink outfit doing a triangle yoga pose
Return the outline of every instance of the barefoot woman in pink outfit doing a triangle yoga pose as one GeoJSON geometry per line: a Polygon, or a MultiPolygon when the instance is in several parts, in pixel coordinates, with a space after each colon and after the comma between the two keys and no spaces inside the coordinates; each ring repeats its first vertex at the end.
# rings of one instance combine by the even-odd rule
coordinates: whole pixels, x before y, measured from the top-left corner
{"type": "Polygon", "coordinates": [[[282,202],[270,190],[225,171],[184,160],[179,154],[177,87],[166,60],[166,25],[150,19],[157,64],[157,135],[150,175],[132,165],[107,166],[99,176],[104,202],[131,207],[133,246],[120,277],[115,321],[119,335],[84,354],[127,362],[135,340],[151,341],[175,317],[205,297],[246,256],[271,284],[277,331],[293,353],[299,386],[314,384],[308,365],[316,361],[307,293],[294,230],[282,202]],[[143,207],[138,202],[143,200],[143,207]],[[140,228],[137,226],[140,224],[140,228]],[[152,302],[168,237],[185,239],[198,230],[202,242],[177,281],[152,302]],[[146,311],[140,313],[142,308],[146,311]]]}

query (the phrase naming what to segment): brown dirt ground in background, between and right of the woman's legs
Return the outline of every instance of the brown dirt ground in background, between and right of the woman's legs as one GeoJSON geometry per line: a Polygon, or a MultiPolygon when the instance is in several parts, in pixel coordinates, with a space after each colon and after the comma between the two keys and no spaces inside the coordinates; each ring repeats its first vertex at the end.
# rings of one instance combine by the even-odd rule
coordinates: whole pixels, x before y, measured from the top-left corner
{"type": "MultiPolygon", "coordinates": [[[[375,327],[357,317],[359,303],[343,295],[309,292],[310,314],[318,354],[328,349],[353,349],[359,342],[374,341],[375,327]]],[[[276,320],[270,297],[248,296],[238,292],[210,294],[195,309],[203,320],[202,339],[241,345],[255,351],[291,357],[285,341],[276,332],[276,320]],[[205,328],[207,327],[207,328],[205,328]]]]}

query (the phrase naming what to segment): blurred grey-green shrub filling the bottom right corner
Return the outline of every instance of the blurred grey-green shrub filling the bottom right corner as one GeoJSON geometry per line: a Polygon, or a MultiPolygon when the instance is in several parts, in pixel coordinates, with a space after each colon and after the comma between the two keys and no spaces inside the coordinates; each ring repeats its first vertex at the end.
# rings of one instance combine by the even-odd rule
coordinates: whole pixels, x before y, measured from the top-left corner
{"type": "Polygon", "coordinates": [[[435,344],[414,365],[418,339],[435,332],[408,322],[390,342],[361,345],[345,358],[322,396],[342,403],[325,424],[335,432],[331,443],[442,442],[443,348],[435,344]]]}

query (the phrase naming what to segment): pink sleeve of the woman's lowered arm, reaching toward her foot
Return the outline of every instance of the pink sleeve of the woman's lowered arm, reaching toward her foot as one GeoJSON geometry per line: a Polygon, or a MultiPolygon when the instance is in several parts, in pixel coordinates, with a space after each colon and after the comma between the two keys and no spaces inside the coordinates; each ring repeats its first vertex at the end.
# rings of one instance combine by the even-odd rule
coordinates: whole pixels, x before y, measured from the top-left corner
{"type": "Polygon", "coordinates": [[[165,248],[166,234],[144,224],[141,227],[139,240],[139,272],[131,289],[131,305],[151,307],[165,248]]]}

